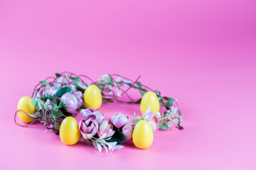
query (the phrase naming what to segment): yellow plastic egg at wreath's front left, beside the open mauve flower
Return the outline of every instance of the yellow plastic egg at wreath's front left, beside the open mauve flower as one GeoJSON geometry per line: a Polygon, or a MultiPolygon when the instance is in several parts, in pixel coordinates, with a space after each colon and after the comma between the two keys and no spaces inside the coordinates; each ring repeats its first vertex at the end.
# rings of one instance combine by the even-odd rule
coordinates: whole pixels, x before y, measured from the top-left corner
{"type": "Polygon", "coordinates": [[[65,145],[74,145],[80,138],[78,123],[73,117],[67,117],[60,125],[60,140],[65,145]]]}

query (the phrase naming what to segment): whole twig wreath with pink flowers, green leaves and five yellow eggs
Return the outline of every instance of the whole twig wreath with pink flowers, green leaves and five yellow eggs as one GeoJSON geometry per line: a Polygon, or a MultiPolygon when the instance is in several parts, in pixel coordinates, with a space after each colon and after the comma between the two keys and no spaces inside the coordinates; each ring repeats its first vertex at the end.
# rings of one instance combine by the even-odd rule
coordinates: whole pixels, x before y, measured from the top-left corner
{"type": "Polygon", "coordinates": [[[139,78],[132,81],[118,74],[105,74],[93,81],[85,75],[56,73],[55,77],[40,81],[31,98],[25,96],[18,101],[14,122],[25,127],[38,121],[47,130],[53,130],[56,135],[60,135],[60,140],[66,145],[74,145],[82,135],[82,140],[92,142],[100,152],[102,147],[106,152],[121,149],[122,142],[127,140],[133,140],[136,147],[145,149],[153,142],[153,131],[157,128],[168,130],[171,126],[182,130],[183,119],[174,98],[161,96],[159,91],[140,83],[139,78]],[[84,79],[90,83],[86,83],[84,79]],[[127,93],[129,89],[137,89],[143,97],[134,101],[127,93]],[[119,98],[124,95],[129,101],[119,98]],[[115,113],[112,118],[104,118],[97,111],[102,101],[141,104],[143,115],[134,113],[131,123],[128,116],[122,113],[115,113]],[[166,108],[166,111],[159,113],[160,106],[166,108]],[[74,119],[78,113],[83,116],[79,125],[74,119]],[[25,125],[16,122],[17,114],[25,125]],[[140,128],[147,130],[147,134],[139,130],[140,128]]]}

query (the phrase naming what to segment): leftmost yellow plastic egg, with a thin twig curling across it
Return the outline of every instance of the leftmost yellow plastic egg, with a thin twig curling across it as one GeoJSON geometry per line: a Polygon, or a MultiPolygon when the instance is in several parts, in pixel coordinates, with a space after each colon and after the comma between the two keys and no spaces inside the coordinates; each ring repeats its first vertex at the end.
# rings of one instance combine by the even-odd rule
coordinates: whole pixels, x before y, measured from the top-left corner
{"type": "MultiPolygon", "coordinates": [[[[18,110],[23,110],[28,114],[33,114],[36,111],[36,107],[31,103],[31,98],[27,96],[23,96],[18,101],[18,110]]],[[[23,121],[23,123],[31,123],[33,118],[30,118],[28,115],[23,113],[23,111],[18,111],[18,118],[23,121]]]]}

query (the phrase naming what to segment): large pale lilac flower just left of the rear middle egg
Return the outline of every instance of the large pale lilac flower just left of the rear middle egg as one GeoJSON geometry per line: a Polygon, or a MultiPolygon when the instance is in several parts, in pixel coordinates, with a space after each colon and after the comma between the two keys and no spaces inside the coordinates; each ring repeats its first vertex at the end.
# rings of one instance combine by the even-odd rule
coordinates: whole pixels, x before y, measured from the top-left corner
{"type": "Polygon", "coordinates": [[[63,94],[60,99],[61,101],[63,101],[63,103],[65,103],[65,106],[67,107],[65,108],[66,111],[68,111],[69,113],[77,114],[78,108],[82,106],[82,103],[79,101],[80,98],[82,98],[82,92],[76,91],[74,94],[63,94]]]}

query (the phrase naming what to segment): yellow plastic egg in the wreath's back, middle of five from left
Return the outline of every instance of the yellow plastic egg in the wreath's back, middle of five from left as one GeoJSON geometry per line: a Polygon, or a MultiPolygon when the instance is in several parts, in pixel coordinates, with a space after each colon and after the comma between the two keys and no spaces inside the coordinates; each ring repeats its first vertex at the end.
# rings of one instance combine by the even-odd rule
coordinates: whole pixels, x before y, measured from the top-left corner
{"type": "Polygon", "coordinates": [[[87,86],[83,96],[83,102],[87,108],[100,108],[102,104],[102,95],[100,93],[100,89],[94,84],[87,86]]]}

